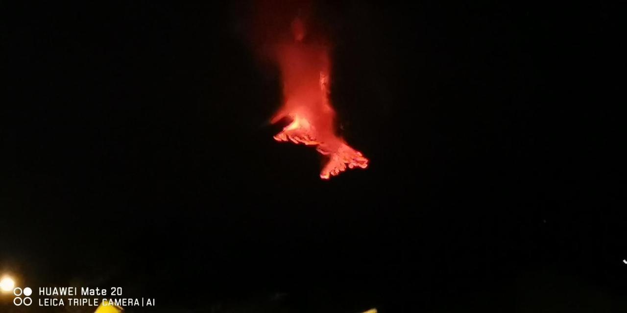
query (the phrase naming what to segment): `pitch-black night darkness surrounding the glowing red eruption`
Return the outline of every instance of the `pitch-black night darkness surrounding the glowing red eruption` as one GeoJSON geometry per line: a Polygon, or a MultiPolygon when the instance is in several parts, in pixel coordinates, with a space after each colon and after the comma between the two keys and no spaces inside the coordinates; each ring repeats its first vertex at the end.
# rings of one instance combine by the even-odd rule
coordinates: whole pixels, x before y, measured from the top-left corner
{"type": "Polygon", "coordinates": [[[315,3],[371,160],[330,181],[272,140],[251,3],[0,4],[0,269],[128,312],[624,310],[603,8],[361,2],[315,3]]]}

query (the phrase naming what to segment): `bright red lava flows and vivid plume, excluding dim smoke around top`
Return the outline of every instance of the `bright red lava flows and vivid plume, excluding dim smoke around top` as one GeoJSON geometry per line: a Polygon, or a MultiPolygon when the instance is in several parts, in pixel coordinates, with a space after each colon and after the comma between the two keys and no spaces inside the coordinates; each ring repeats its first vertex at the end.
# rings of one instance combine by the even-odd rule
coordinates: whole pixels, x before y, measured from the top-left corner
{"type": "Polygon", "coordinates": [[[300,19],[293,21],[292,34],[292,42],[278,44],[274,51],[282,74],[284,103],[271,122],[292,120],[274,136],[275,140],[315,146],[329,159],[320,172],[322,179],[339,175],[346,168],[366,168],[368,159],[335,134],[335,111],[329,100],[328,48],[306,42],[300,19]]]}

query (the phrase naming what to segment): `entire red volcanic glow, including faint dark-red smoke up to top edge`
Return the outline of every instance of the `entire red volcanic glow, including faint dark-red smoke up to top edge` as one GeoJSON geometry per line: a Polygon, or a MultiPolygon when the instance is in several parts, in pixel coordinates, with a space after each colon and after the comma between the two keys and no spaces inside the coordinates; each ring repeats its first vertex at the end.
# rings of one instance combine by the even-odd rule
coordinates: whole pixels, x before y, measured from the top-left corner
{"type": "Polygon", "coordinates": [[[311,0],[257,0],[250,42],[261,59],[280,70],[283,103],[271,118],[291,123],[274,136],[281,142],[315,146],[326,164],[320,177],[329,179],[347,168],[366,168],[368,159],[335,133],[335,111],[330,103],[329,44],[324,29],[315,24],[311,0]]]}

